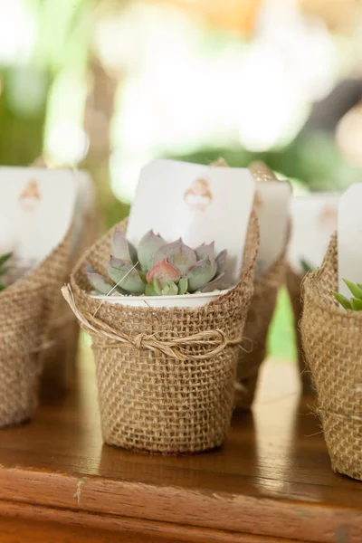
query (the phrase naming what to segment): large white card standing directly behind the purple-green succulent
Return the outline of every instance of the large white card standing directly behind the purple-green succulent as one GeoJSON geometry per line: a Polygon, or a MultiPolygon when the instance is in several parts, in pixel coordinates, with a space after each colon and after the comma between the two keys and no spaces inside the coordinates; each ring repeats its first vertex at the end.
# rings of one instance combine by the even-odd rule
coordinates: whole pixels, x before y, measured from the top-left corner
{"type": "Polygon", "coordinates": [[[180,236],[195,248],[214,241],[228,251],[226,274],[236,282],[252,212],[255,182],[246,168],[154,160],[141,170],[127,236],[138,245],[149,230],[167,242],[180,236]]]}

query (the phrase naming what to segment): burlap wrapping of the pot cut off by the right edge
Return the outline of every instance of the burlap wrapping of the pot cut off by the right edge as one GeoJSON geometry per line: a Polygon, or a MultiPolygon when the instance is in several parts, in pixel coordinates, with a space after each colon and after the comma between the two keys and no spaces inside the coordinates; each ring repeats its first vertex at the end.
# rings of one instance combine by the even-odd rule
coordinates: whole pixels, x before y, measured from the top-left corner
{"type": "Polygon", "coordinates": [[[332,469],[362,480],[362,313],[342,310],[330,294],[337,290],[334,235],[322,266],[303,282],[300,330],[332,469]]]}

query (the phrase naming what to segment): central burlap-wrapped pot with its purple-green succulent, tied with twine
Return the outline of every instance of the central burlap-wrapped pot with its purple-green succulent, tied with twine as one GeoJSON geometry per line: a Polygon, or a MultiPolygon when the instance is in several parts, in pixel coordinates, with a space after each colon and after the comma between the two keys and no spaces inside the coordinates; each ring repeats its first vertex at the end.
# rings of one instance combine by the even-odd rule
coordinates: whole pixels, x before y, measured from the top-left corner
{"type": "Polygon", "coordinates": [[[233,286],[225,282],[226,252],[214,255],[213,243],[193,250],[148,233],[136,252],[125,229],[119,224],[85,252],[62,290],[92,337],[103,439],[166,454],[213,449],[233,412],[255,217],[233,286]]]}

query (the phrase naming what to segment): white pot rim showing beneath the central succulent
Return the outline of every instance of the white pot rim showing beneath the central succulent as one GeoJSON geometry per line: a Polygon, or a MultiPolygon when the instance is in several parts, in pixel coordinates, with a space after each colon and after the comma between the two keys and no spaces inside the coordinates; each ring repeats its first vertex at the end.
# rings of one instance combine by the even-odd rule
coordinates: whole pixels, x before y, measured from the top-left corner
{"type": "Polygon", "coordinates": [[[214,292],[200,292],[199,294],[183,294],[176,296],[102,296],[90,294],[90,298],[107,301],[115,305],[123,305],[132,308],[200,308],[218,296],[226,294],[230,289],[214,292]]]}

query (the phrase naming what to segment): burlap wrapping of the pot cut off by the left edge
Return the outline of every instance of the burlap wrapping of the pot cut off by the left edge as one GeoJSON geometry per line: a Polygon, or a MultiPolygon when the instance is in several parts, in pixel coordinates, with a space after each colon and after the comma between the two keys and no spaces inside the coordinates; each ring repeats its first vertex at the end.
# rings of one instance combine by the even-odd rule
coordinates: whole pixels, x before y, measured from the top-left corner
{"type": "Polygon", "coordinates": [[[64,281],[68,245],[69,235],[32,273],[0,294],[0,427],[24,422],[36,408],[53,293],[64,281]]]}

